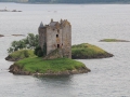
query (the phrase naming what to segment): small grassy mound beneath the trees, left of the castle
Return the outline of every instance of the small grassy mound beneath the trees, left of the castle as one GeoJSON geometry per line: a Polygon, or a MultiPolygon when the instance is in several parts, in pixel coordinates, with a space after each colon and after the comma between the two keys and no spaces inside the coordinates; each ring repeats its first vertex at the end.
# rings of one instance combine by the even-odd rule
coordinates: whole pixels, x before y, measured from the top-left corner
{"type": "Polygon", "coordinates": [[[27,57],[36,57],[32,50],[20,50],[9,55],[11,58],[23,59],[27,57]]]}

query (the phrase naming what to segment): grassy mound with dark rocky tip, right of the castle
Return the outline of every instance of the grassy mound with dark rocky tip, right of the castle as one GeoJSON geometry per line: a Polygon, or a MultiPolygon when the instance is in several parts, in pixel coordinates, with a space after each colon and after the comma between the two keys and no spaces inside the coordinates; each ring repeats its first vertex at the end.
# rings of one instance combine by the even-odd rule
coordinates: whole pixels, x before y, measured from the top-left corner
{"type": "Polygon", "coordinates": [[[91,45],[89,43],[82,43],[78,45],[72,46],[72,57],[74,59],[87,59],[87,58],[104,58],[104,57],[112,57],[113,55],[105,52],[104,50],[91,45]]]}

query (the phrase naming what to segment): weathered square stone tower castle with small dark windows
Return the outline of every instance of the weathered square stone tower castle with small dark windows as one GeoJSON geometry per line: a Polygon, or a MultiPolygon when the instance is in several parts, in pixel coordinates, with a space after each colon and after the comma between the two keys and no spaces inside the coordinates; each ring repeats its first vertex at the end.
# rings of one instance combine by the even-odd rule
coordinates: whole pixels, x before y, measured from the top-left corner
{"type": "Polygon", "coordinates": [[[39,45],[41,50],[46,47],[47,55],[60,50],[63,57],[72,58],[72,25],[67,19],[61,22],[51,19],[49,25],[41,23],[38,31],[39,45]]]}

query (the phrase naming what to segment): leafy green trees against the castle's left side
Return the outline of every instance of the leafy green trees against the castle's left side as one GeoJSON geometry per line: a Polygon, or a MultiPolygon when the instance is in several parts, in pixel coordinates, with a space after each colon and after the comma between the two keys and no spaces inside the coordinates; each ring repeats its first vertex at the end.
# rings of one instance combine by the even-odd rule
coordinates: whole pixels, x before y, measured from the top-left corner
{"type": "Polygon", "coordinates": [[[13,53],[23,48],[34,50],[36,46],[38,46],[38,34],[35,36],[34,33],[28,33],[25,39],[22,39],[20,41],[13,41],[11,43],[11,47],[8,48],[8,52],[13,53]]]}

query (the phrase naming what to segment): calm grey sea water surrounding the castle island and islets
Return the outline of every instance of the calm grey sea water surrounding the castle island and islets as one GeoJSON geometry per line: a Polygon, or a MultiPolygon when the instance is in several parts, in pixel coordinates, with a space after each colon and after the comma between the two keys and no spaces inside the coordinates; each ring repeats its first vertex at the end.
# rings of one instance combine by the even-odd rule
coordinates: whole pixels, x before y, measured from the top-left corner
{"type": "Polygon", "coordinates": [[[130,43],[101,43],[105,38],[130,41],[130,4],[20,4],[0,3],[0,97],[130,97],[130,43]],[[38,33],[40,22],[68,19],[73,44],[91,43],[114,54],[112,58],[79,59],[91,72],[68,77],[35,78],[13,75],[4,60],[6,48],[25,37],[38,33]]]}

